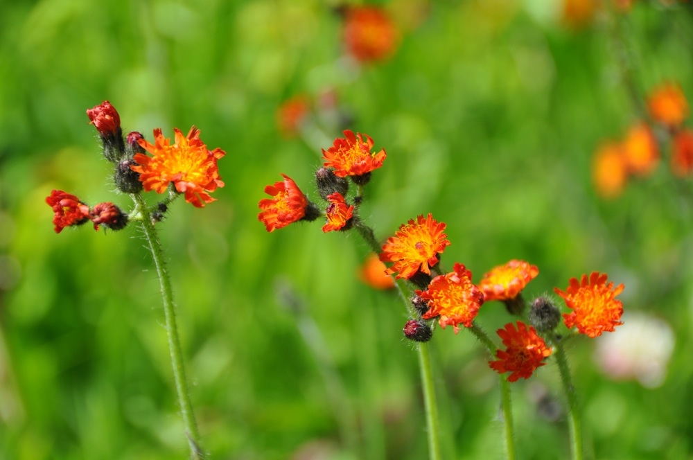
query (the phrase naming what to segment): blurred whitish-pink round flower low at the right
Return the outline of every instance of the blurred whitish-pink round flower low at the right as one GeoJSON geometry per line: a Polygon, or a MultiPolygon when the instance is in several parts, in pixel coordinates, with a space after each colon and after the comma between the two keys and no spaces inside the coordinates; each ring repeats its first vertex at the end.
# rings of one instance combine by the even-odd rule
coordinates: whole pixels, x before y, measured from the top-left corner
{"type": "Polygon", "coordinates": [[[626,312],[623,325],[597,339],[595,360],[614,380],[637,379],[644,387],[663,384],[674,350],[669,324],[644,313],[626,312]]]}

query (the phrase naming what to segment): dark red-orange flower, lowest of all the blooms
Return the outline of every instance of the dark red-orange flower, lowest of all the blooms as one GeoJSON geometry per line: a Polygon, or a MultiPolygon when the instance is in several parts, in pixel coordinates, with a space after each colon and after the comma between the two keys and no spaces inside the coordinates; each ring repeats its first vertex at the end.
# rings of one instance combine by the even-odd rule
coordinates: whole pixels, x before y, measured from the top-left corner
{"type": "Polygon", "coordinates": [[[506,348],[495,352],[498,361],[489,362],[489,366],[498,373],[511,372],[508,382],[532,377],[545,364],[544,358],[551,355],[551,348],[536,330],[532,326],[528,329],[522,321],[517,321],[517,329],[512,323],[506,324],[505,329],[498,329],[498,336],[506,348]]]}

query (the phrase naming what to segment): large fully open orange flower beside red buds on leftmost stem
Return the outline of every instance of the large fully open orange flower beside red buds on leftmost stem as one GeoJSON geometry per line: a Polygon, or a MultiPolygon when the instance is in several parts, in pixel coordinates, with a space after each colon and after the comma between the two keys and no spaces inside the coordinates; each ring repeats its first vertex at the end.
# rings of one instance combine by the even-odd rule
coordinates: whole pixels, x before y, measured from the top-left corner
{"type": "Polygon", "coordinates": [[[131,168],[140,173],[139,179],[146,191],[164,193],[173,183],[178,193],[185,193],[186,202],[202,208],[204,203],[215,201],[209,193],[224,186],[217,160],[226,152],[220,148],[207,150],[207,145],[200,139],[200,130],[194,126],[188,136],[183,136],[178,128],[174,128],[174,132],[173,145],[161,134],[160,128],[154,130],[155,145],[139,139],[139,145],[154,156],[135,154],[133,159],[139,166],[131,168]]]}

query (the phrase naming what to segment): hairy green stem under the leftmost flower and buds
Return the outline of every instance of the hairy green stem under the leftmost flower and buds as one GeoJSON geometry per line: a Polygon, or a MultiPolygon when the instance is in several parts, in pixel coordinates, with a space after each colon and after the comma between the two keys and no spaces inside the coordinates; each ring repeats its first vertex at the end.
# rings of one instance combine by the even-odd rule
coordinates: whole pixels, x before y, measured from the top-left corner
{"type": "Polygon", "coordinates": [[[152,251],[154,265],[157,267],[157,275],[159,276],[159,286],[161,288],[161,298],[164,302],[164,316],[166,317],[166,334],[168,335],[168,348],[170,351],[171,364],[173,364],[173,380],[178,393],[178,403],[180,412],[183,417],[185,434],[188,438],[190,446],[190,458],[193,460],[202,459],[202,449],[200,448],[200,433],[198,432],[198,424],[195,423],[195,414],[193,414],[193,405],[190,402],[188,393],[188,382],[185,375],[185,367],[183,364],[183,351],[180,347],[180,339],[178,337],[178,328],[175,320],[175,308],[173,305],[173,290],[171,289],[170,278],[166,271],[164,263],[164,251],[161,249],[161,242],[157,237],[157,230],[152,224],[149,211],[146,203],[139,194],[133,194],[137,209],[142,214],[142,229],[149,243],[149,249],[152,251]]]}

